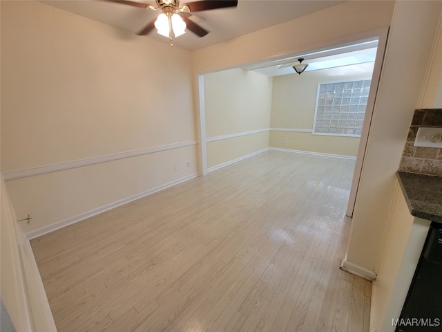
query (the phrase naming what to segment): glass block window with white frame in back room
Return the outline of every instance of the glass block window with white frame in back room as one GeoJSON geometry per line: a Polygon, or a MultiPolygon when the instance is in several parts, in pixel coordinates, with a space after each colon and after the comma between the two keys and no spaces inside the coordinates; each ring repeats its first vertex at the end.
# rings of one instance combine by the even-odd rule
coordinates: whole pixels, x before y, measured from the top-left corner
{"type": "Polygon", "coordinates": [[[361,136],[372,80],[318,84],[313,133],[361,136]]]}

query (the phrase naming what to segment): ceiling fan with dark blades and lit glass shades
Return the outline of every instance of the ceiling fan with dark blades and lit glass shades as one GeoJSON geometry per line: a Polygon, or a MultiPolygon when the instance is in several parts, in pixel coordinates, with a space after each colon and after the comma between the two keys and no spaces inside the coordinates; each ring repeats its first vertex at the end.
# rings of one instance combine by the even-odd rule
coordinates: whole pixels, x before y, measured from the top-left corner
{"type": "Polygon", "coordinates": [[[209,33],[194,21],[189,19],[192,12],[202,12],[203,10],[213,10],[219,8],[229,8],[238,6],[238,0],[200,0],[184,3],[180,7],[180,0],[155,0],[156,7],[146,3],[128,0],[106,0],[110,2],[122,3],[124,5],[146,8],[147,10],[161,10],[161,14],[150,21],[137,35],[147,35],[157,29],[157,33],[164,37],[169,37],[173,46],[173,37],[178,37],[186,32],[186,28],[191,32],[204,37],[209,33]]]}

